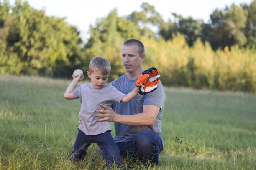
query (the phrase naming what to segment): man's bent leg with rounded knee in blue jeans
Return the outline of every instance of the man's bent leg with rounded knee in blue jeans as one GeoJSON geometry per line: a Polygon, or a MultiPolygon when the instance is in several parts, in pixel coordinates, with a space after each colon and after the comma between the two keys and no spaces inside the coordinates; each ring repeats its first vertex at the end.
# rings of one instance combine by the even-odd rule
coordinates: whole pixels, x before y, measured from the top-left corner
{"type": "Polygon", "coordinates": [[[150,161],[158,165],[159,153],[162,150],[161,138],[152,131],[142,131],[133,140],[133,151],[142,163],[150,161]]]}

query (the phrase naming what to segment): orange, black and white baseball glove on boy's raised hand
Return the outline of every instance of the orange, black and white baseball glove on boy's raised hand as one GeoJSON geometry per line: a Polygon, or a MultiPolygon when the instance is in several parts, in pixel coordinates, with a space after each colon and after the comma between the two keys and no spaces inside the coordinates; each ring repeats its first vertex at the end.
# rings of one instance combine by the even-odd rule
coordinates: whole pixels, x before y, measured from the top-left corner
{"type": "Polygon", "coordinates": [[[154,67],[149,68],[143,72],[141,71],[141,75],[138,81],[136,82],[136,86],[140,88],[139,93],[141,95],[146,95],[149,92],[153,92],[157,89],[158,84],[160,82],[160,75],[158,73],[159,70],[157,70],[154,67]]]}

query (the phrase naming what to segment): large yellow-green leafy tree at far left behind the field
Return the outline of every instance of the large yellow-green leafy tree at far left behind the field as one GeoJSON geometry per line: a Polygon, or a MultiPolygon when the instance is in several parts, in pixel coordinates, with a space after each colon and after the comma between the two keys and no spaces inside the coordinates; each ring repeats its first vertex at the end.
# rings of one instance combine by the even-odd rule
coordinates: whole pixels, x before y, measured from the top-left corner
{"type": "MultiPolygon", "coordinates": [[[[1,11],[5,6],[1,5],[1,11]]],[[[79,65],[81,39],[77,28],[68,25],[64,18],[45,16],[44,11],[31,8],[28,2],[16,0],[11,13],[9,11],[7,17],[1,17],[2,23],[3,20],[5,23],[0,30],[5,32],[5,36],[1,37],[5,42],[2,49],[7,58],[3,63],[5,70],[15,67],[8,64],[11,56],[12,61],[16,60],[21,65],[19,72],[13,72],[15,74],[63,77],[79,65]]]]}

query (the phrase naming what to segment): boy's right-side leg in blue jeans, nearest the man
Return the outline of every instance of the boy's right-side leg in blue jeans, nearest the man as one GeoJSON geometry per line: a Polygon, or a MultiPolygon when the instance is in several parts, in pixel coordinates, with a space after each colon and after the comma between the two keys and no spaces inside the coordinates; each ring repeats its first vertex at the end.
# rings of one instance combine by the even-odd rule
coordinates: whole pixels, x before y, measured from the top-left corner
{"type": "Polygon", "coordinates": [[[111,133],[105,132],[99,135],[94,135],[93,139],[100,147],[101,154],[108,166],[108,169],[113,169],[115,167],[123,169],[121,155],[111,133]]]}

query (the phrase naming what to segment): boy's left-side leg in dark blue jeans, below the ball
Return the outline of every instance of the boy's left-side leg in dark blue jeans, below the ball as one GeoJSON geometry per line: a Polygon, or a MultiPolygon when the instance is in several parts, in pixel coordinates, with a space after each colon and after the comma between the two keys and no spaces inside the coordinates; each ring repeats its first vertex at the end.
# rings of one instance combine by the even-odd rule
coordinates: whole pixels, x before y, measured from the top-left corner
{"type": "Polygon", "coordinates": [[[87,148],[90,146],[90,141],[87,135],[85,135],[81,130],[78,130],[76,142],[74,144],[74,150],[72,151],[72,160],[83,160],[87,148]]]}

